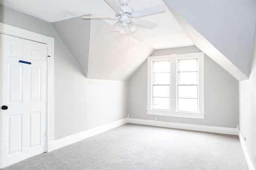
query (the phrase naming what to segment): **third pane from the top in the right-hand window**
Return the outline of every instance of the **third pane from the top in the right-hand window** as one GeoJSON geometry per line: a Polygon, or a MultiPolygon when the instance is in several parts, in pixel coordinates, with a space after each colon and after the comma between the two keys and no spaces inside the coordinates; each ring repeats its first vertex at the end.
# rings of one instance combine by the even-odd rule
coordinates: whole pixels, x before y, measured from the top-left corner
{"type": "Polygon", "coordinates": [[[197,98],[197,86],[178,86],[179,98],[197,98]]]}

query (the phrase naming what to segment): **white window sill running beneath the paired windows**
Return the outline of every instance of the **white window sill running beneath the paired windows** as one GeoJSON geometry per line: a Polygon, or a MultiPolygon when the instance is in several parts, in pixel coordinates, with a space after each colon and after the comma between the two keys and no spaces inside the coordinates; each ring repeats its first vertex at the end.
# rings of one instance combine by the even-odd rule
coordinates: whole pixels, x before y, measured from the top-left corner
{"type": "Polygon", "coordinates": [[[172,117],[186,117],[193,119],[204,119],[205,113],[182,112],[182,111],[164,111],[146,109],[148,115],[172,116],[172,117]]]}

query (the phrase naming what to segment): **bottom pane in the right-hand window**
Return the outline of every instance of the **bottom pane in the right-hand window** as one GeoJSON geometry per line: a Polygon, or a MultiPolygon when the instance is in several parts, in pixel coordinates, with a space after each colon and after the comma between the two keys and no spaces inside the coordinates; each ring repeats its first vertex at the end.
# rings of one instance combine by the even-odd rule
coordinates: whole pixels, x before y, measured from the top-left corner
{"type": "Polygon", "coordinates": [[[197,99],[178,99],[178,111],[198,112],[197,99]]]}

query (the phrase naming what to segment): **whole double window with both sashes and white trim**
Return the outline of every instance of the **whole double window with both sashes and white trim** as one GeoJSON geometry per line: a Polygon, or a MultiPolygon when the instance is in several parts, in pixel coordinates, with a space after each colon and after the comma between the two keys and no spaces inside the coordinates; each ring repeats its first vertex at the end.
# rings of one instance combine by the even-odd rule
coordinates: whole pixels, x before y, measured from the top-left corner
{"type": "Polygon", "coordinates": [[[147,113],[204,119],[204,53],[148,58],[147,113]]]}

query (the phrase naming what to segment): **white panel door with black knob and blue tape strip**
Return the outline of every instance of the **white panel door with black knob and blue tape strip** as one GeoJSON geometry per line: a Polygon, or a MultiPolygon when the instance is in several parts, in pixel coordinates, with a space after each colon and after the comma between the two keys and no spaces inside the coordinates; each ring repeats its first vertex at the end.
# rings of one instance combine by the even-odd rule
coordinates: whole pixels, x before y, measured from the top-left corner
{"type": "Polygon", "coordinates": [[[47,45],[1,33],[0,69],[0,162],[5,167],[46,152],[47,45]]]}

